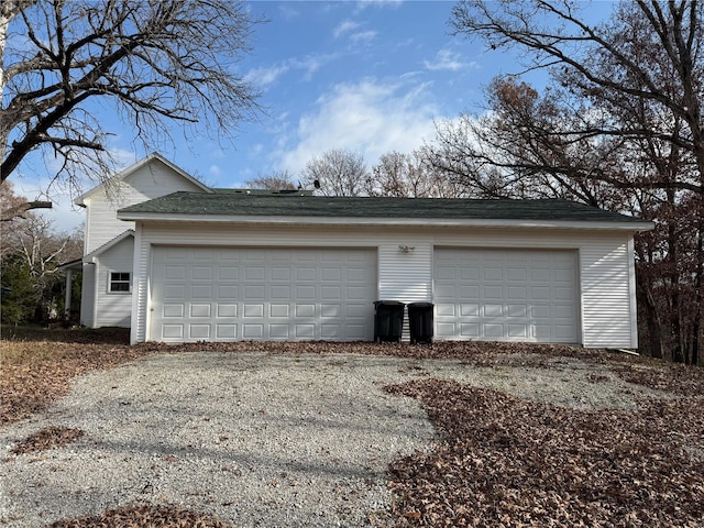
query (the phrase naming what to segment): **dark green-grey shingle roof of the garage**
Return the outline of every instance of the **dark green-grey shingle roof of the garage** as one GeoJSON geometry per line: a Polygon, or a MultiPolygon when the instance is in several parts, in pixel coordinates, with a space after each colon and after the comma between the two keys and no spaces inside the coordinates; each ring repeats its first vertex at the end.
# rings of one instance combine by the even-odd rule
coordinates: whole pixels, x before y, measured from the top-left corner
{"type": "Polygon", "coordinates": [[[148,216],[245,216],[377,219],[536,220],[642,222],[568,200],[470,200],[370,198],[245,193],[174,193],[120,209],[122,218],[148,216]]]}

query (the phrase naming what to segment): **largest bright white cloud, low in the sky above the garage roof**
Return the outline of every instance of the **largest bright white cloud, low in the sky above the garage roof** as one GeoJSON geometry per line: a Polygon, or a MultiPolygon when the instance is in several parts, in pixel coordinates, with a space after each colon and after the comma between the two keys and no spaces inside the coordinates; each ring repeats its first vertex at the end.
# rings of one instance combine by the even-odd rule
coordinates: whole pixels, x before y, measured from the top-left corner
{"type": "Polygon", "coordinates": [[[304,114],[293,135],[279,136],[279,168],[300,172],[330,148],[360,152],[369,165],[391,151],[410,152],[433,134],[438,108],[428,85],[340,84],[304,114]]]}

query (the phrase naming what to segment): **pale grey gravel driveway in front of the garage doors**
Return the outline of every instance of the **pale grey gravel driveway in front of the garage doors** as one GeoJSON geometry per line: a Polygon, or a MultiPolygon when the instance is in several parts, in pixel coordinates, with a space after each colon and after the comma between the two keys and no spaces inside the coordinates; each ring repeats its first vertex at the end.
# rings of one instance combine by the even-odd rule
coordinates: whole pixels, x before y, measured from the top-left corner
{"type": "Polygon", "coordinates": [[[387,395],[384,385],[449,378],[579,409],[629,409],[635,396],[656,394],[600,365],[543,363],[522,366],[519,354],[476,367],[207,352],[94,372],[44,415],[0,430],[0,524],[42,527],[125,504],[165,504],[235,527],[364,526],[388,509],[388,464],[433,439],[417,402],[387,395]],[[65,448],[11,453],[48,426],[85,435],[65,448]]]}

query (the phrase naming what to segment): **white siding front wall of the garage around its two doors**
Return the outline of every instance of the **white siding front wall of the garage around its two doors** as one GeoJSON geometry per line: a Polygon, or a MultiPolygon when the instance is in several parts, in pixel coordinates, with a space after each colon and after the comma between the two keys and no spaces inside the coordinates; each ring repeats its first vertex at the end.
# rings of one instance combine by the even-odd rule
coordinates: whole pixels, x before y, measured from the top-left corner
{"type": "MultiPolygon", "coordinates": [[[[587,231],[560,229],[503,229],[503,228],[396,228],[384,227],[265,227],[227,226],[211,223],[147,223],[138,226],[135,246],[135,292],[132,341],[148,339],[148,276],[151,246],[160,245],[227,245],[270,248],[375,248],[378,251],[378,299],[432,301],[432,261],[436,246],[450,248],[510,248],[561,249],[580,254],[576,289],[581,295],[580,334],[585,346],[637,346],[635,334],[634,284],[629,279],[628,248],[632,235],[624,231],[587,231]],[[414,246],[404,253],[399,245],[414,246]],[[626,271],[624,278],[623,273],[626,271]],[[600,277],[618,277],[618,287],[598,286],[600,277]],[[623,282],[620,282],[623,278],[623,282]],[[626,293],[624,294],[624,288],[626,293]],[[598,294],[596,293],[598,289],[598,294]],[[605,310],[614,328],[601,329],[605,310]]],[[[610,284],[610,283],[609,283],[610,284]]],[[[615,284],[615,283],[614,283],[615,284]]],[[[370,307],[373,310],[373,307],[370,307]]]]}

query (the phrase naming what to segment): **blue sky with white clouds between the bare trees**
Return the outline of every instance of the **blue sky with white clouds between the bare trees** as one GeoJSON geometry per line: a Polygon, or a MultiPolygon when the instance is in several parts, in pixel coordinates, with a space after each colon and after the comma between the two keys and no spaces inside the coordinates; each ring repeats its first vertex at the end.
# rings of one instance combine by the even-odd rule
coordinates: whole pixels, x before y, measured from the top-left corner
{"type": "MultiPolygon", "coordinates": [[[[288,170],[296,177],[330,148],[380,155],[410,152],[433,135],[433,121],[483,111],[483,87],[498,74],[519,72],[516,58],[486,52],[480,42],[450,34],[449,1],[256,1],[253,50],[238,74],[262,91],[265,112],[244,122],[233,143],[207,136],[157,145],[164,156],[215,187],[241,187],[256,176],[288,170]]],[[[600,14],[609,2],[596,4],[600,14]]],[[[536,80],[536,79],[534,79],[536,80]]],[[[110,147],[123,166],[147,152],[133,131],[110,119],[110,147]]],[[[102,117],[101,117],[102,119],[102,117]]],[[[41,160],[37,158],[37,162],[41,160]]],[[[25,166],[26,168],[26,166],[25,166]]],[[[33,198],[42,183],[15,178],[18,194],[33,198]]],[[[86,183],[85,189],[91,186],[86,183]]],[[[58,231],[80,224],[81,210],[65,194],[46,211],[58,231]]]]}

